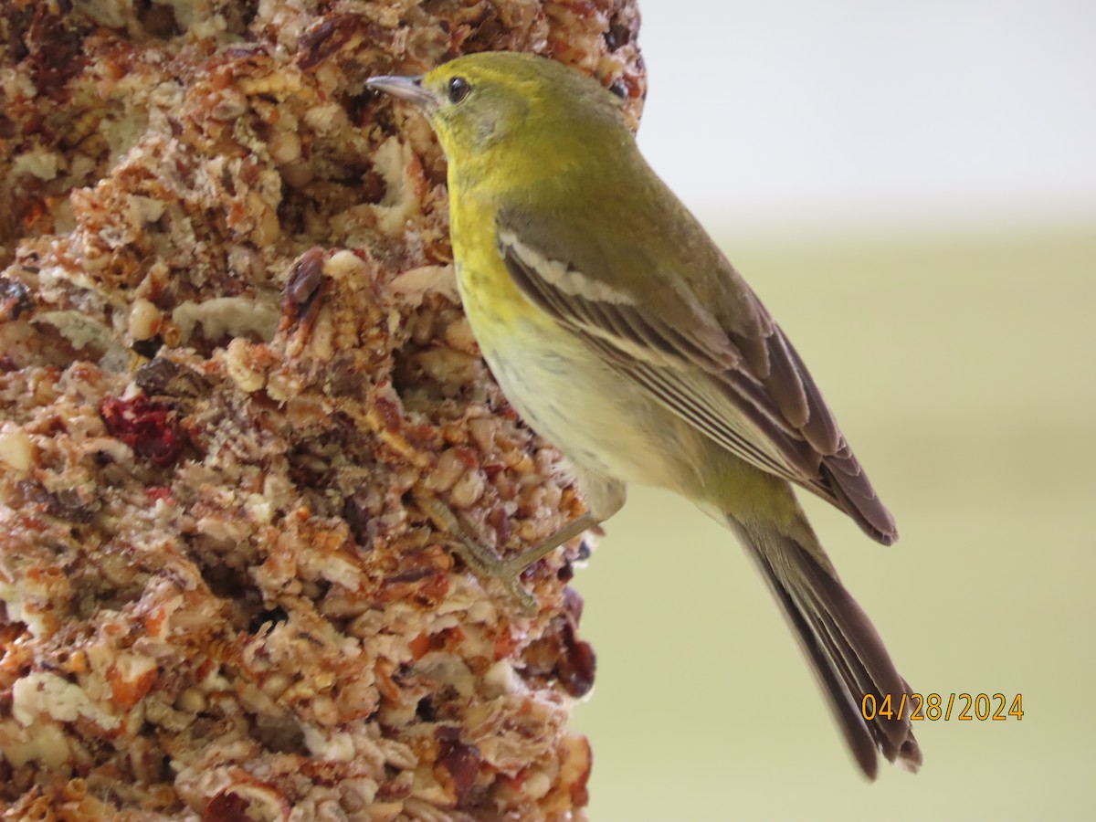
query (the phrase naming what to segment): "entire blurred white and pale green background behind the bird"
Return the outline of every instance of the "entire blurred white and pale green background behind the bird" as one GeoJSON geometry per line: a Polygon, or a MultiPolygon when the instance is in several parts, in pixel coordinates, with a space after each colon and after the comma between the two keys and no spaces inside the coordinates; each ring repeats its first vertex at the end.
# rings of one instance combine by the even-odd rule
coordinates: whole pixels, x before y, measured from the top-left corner
{"type": "Polygon", "coordinates": [[[640,0],[640,144],[804,355],[902,533],[806,499],[924,693],[866,784],[731,535],[635,489],[575,584],[591,818],[1096,819],[1096,3],[640,0]]]}

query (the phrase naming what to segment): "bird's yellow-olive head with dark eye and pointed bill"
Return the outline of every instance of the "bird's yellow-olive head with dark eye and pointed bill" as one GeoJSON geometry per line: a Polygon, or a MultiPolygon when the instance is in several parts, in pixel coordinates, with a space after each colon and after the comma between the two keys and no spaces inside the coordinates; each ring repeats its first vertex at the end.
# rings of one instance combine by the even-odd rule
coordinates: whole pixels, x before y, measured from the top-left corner
{"type": "Polygon", "coordinates": [[[507,165],[516,153],[550,165],[575,148],[582,156],[606,138],[631,138],[619,98],[530,54],[467,55],[421,77],[374,77],[366,85],[416,105],[458,165],[507,165]]]}

